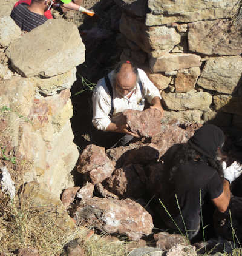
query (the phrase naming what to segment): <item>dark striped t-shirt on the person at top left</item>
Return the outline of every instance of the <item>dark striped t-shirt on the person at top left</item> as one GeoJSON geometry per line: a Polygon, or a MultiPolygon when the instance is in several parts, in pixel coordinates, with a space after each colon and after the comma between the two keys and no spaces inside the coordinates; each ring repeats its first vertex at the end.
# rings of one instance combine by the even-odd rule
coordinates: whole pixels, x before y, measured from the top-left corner
{"type": "Polygon", "coordinates": [[[44,24],[47,18],[44,15],[31,12],[27,7],[27,4],[19,4],[13,8],[10,16],[21,30],[30,32],[35,27],[44,24]]]}

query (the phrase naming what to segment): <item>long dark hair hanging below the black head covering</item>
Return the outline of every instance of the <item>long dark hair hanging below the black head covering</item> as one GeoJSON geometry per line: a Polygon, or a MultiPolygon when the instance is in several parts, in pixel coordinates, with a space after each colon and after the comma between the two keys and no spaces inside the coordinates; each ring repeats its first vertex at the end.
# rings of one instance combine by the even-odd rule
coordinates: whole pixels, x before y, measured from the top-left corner
{"type": "Polygon", "coordinates": [[[175,154],[174,157],[174,166],[171,169],[169,180],[172,180],[174,177],[175,172],[178,169],[178,166],[182,163],[186,163],[188,161],[197,159],[198,161],[201,161],[203,163],[208,163],[209,166],[217,170],[218,175],[220,176],[221,180],[223,180],[224,175],[223,175],[223,168],[221,161],[219,160],[218,155],[215,156],[214,159],[205,157],[202,155],[200,152],[197,150],[193,149],[188,143],[183,144],[181,146],[181,149],[178,150],[178,152],[175,154]]]}

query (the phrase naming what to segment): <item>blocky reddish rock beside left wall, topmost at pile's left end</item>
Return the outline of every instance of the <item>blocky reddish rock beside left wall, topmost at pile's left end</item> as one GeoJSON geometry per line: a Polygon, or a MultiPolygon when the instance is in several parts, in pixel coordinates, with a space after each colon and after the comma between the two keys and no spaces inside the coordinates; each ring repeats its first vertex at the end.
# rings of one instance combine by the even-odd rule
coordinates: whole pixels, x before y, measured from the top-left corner
{"type": "Polygon", "coordinates": [[[77,171],[88,173],[95,185],[111,176],[114,163],[106,156],[104,147],[88,145],[79,157],[77,171]]]}

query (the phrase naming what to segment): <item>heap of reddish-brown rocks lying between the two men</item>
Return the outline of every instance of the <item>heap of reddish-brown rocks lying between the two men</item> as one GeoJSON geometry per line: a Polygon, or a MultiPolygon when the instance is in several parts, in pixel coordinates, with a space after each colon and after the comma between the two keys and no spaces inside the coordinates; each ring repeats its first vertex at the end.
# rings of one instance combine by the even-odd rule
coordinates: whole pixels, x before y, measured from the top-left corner
{"type": "MultiPolygon", "coordinates": [[[[132,112],[137,115],[136,110],[129,110],[130,116],[132,112]]],[[[131,127],[137,124],[132,118],[129,121],[131,127]]],[[[139,133],[146,130],[149,134],[154,130],[149,126],[154,118],[146,123],[145,128],[142,123],[136,126],[139,133]]],[[[96,226],[108,234],[125,234],[134,241],[151,234],[154,227],[152,211],[145,205],[147,198],[159,192],[162,184],[164,172],[159,159],[172,145],[185,143],[198,127],[188,126],[185,130],[175,122],[160,124],[159,131],[151,138],[106,152],[103,147],[88,145],[77,163],[77,171],[83,175],[83,186],[64,190],[62,203],[69,207],[77,224],[96,226]]],[[[159,237],[157,240],[158,244],[166,243],[165,238],[163,242],[159,237]]]]}

